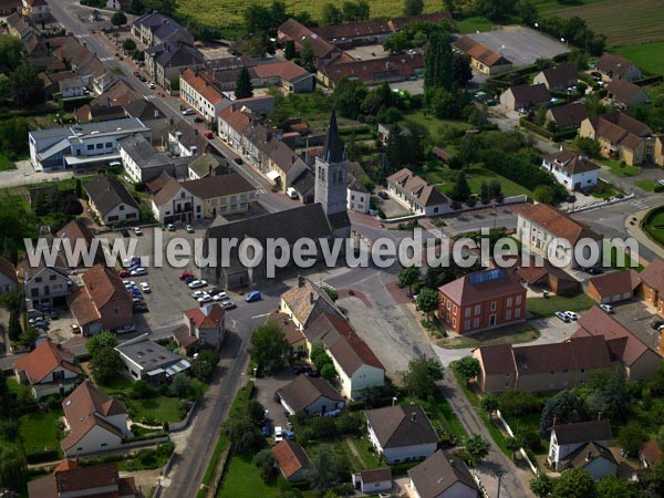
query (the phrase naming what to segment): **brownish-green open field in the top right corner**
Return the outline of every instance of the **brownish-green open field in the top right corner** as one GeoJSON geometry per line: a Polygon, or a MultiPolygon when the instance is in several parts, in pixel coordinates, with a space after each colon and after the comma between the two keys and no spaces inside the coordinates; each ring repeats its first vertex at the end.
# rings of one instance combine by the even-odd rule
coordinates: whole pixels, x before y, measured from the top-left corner
{"type": "MultiPolygon", "coordinates": [[[[592,30],[606,35],[609,45],[664,40],[662,0],[581,0],[572,7],[548,0],[535,4],[544,15],[584,19],[592,30]]],[[[652,53],[656,54],[656,49],[652,53]]]]}

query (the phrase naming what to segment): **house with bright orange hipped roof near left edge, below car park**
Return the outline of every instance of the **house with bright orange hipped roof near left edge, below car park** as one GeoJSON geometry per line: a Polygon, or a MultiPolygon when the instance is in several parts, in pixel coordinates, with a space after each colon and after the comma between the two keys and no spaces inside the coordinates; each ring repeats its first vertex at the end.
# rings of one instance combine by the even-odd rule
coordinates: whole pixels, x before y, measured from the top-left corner
{"type": "Polygon", "coordinates": [[[50,340],[41,342],[30,354],[13,365],[17,382],[28,384],[38,400],[51,394],[64,394],[74,388],[82,374],[71,351],[50,340]]]}

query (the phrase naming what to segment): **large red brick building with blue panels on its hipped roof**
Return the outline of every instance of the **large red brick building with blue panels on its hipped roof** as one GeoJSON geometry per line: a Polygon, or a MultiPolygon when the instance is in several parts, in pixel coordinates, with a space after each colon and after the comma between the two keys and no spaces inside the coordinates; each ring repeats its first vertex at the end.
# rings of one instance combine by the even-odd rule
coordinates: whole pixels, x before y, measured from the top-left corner
{"type": "Polygon", "coordinates": [[[509,269],[483,270],[438,289],[438,318],[457,334],[526,320],[526,289],[509,269]]]}

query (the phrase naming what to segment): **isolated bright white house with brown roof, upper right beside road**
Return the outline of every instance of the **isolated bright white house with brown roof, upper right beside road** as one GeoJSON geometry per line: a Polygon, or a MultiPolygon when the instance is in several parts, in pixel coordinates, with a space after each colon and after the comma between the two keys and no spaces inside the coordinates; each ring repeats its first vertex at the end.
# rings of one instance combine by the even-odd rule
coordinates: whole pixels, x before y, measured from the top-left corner
{"type": "Polygon", "coordinates": [[[559,152],[544,156],[542,167],[570,191],[598,185],[600,167],[575,151],[561,147],[559,152]]]}

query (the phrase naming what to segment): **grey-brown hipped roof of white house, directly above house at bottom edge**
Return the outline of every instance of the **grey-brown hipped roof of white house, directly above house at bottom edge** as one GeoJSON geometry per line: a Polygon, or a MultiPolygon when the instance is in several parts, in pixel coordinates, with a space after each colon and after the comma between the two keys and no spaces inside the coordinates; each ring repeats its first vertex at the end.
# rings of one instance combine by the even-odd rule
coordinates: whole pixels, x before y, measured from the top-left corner
{"type": "Polygon", "coordinates": [[[364,412],[383,449],[438,443],[419,405],[396,405],[364,412]]]}

